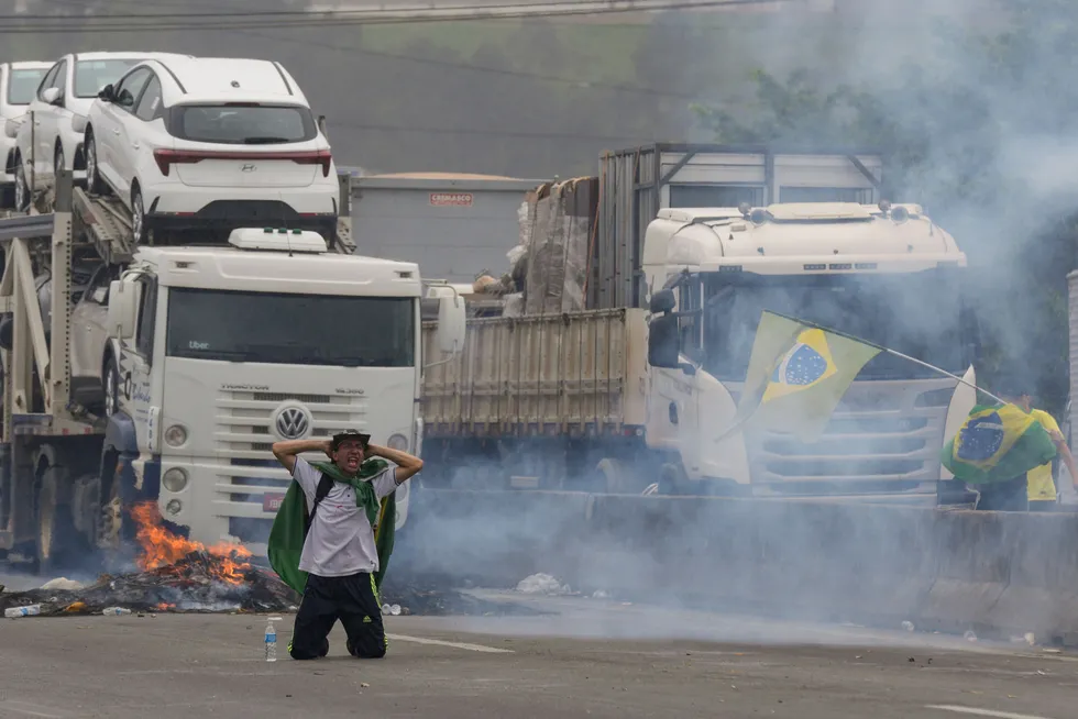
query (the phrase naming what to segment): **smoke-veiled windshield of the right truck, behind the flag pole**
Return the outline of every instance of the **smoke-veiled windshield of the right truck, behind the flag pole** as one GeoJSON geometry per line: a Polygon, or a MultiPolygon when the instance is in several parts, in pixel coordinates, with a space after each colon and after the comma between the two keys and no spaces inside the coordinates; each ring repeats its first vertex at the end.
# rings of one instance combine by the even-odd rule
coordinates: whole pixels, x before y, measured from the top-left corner
{"type": "MultiPolygon", "coordinates": [[[[952,270],[953,273],[954,270],[952,270]]],[[[809,320],[965,373],[967,357],[958,277],[943,270],[892,275],[704,277],[705,368],[744,381],[763,310],[809,320]]],[[[936,373],[890,354],[877,355],[858,379],[914,379],[936,373]]]]}

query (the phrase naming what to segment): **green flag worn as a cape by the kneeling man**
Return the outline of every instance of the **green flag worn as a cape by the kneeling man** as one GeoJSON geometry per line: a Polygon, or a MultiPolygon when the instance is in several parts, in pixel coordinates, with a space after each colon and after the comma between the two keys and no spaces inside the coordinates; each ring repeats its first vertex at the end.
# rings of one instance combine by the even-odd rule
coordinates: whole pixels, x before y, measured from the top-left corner
{"type": "MultiPolygon", "coordinates": [[[[354,477],[348,477],[337,465],[328,462],[312,462],[311,466],[328,474],[334,482],[342,482],[355,488],[355,504],[364,508],[367,520],[374,528],[374,542],[378,551],[378,571],[374,574],[374,583],[381,590],[382,579],[385,577],[386,567],[389,566],[389,555],[393,553],[397,500],[396,494],[392,494],[384,497],[380,504],[370,480],[389,465],[384,460],[366,460],[360,465],[360,471],[354,477]]],[[[302,594],[307,586],[307,573],[299,568],[299,557],[304,553],[304,542],[307,539],[304,531],[307,515],[307,497],[299,485],[292,482],[273,520],[266,550],[273,571],[282,582],[299,594],[302,594]]]]}

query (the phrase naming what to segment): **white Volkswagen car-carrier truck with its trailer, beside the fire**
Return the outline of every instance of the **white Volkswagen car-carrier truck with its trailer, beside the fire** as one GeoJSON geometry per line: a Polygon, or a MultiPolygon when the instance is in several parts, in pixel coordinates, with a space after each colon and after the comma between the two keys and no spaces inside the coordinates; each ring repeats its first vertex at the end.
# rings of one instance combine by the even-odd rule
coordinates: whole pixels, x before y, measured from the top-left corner
{"type": "MultiPolygon", "coordinates": [[[[66,172],[54,212],[3,220],[0,239],[0,554],[43,568],[114,547],[144,500],[193,541],[257,554],[289,482],[274,441],[354,428],[418,451],[415,264],[265,228],[136,245],[66,172]]],[[[435,301],[452,356],[463,303],[435,301]]]]}

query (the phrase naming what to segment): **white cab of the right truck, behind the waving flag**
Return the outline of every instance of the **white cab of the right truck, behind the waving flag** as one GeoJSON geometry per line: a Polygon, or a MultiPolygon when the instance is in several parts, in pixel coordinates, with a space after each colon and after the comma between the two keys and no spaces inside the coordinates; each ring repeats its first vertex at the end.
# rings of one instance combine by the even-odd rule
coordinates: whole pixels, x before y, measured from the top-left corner
{"type": "Polygon", "coordinates": [[[673,294],[676,333],[652,333],[649,342],[652,350],[676,344],[679,361],[649,372],[648,444],[670,457],[660,484],[694,494],[935,495],[950,479],[939,447],[972,408],[975,391],[886,353],[865,366],[818,442],[766,429],[723,435],[734,424],[763,310],[974,383],[965,266],[952,235],[915,204],[661,210],[647,230],[644,268],[651,297],[673,294]]]}

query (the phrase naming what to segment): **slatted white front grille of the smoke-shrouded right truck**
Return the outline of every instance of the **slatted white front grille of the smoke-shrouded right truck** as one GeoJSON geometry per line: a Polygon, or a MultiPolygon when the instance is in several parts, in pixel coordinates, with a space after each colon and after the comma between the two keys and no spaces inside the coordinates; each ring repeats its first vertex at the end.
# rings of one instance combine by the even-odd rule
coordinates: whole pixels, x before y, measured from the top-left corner
{"type": "Polygon", "coordinates": [[[817,442],[767,431],[748,436],[752,482],[783,494],[902,491],[934,483],[947,406],[923,397],[954,386],[946,379],[856,384],[817,442]]]}

